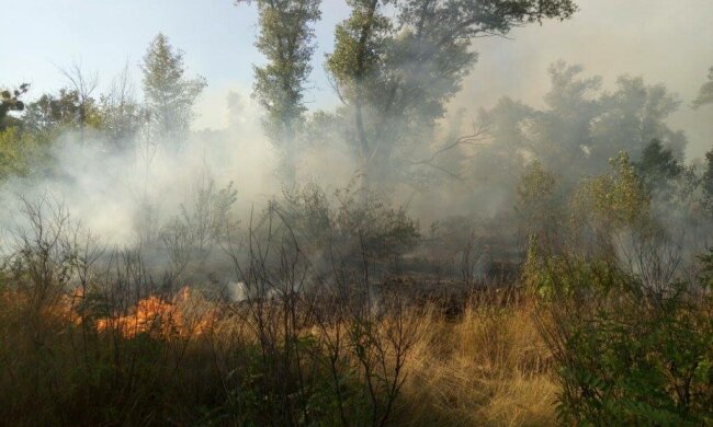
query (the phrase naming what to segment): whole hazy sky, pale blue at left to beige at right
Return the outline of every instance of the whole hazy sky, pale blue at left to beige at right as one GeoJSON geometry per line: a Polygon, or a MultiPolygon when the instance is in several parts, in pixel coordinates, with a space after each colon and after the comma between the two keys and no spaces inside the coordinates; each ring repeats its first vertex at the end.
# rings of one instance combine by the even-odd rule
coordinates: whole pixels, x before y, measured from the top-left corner
{"type": "MultiPolygon", "coordinates": [[[[713,108],[693,112],[690,102],[713,66],[713,0],[580,0],[581,11],[565,23],[514,31],[514,39],[480,39],[480,59],[454,106],[472,111],[501,95],[541,103],[546,69],[557,59],[582,64],[612,85],[619,74],[643,76],[680,95],[670,120],[687,131],[689,157],[713,143],[713,108]]],[[[33,94],[66,84],[57,67],[81,60],[106,86],[128,61],[137,65],[147,44],[163,32],[185,51],[190,72],[207,79],[196,127],[226,123],[226,92],[248,94],[257,16],[231,0],[0,0],[0,84],[29,81],[33,94]]],[[[322,0],[318,51],[307,95],[310,107],[336,103],[322,70],[335,23],[348,10],[343,0],[322,0]]]]}

